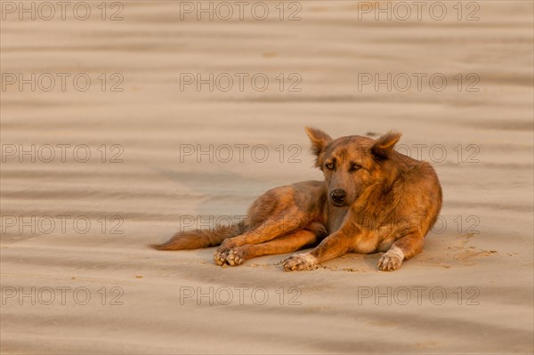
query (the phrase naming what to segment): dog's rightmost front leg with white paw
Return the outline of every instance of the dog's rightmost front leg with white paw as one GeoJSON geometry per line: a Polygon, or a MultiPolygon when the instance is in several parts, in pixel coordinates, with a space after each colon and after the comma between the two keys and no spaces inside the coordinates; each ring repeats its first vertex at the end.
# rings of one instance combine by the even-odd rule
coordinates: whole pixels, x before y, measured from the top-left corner
{"type": "Polygon", "coordinates": [[[397,270],[404,259],[409,259],[423,250],[425,238],[419,231],[412,231],[397,239],[378,260],[378,268],[384,271],[397,270]]]}

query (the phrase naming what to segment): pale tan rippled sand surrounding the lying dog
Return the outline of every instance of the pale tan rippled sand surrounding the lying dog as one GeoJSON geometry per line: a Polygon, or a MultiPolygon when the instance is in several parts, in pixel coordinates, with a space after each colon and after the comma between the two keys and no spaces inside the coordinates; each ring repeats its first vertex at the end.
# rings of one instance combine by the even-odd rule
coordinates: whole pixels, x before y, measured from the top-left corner
{"type": "Polygon", "coordinates": [[[534,351],[533,6],[464,2],[457,20],[453,3],[443,20],[350,1],[294,2],[283,20],[272,2],[265,20],[197,20],[196,2],[108,3],[106,20],[100,2],[88,20],[4,8],[2,353],[534,351]],[[213,91],[188,84],[198,73],[213,91]],[[365,84],[388,73],[391,91],[365,84]],[[380,254],[285,272],[287,255],[221,268],[214,248],[147,247],[320,180],[305,125],[420,147],[444,191],[423,254],[395,272],[380,254]]]}

